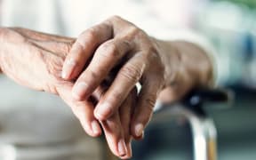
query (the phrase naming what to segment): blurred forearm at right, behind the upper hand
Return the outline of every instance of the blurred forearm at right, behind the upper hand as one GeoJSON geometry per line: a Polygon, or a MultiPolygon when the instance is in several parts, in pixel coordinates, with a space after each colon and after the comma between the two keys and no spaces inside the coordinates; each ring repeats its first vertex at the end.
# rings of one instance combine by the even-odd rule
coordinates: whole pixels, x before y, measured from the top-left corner
{"type": "Polygon", "coordinates": [[[196,87],[212,86],[212,61],[200,46],[184,41],[157,40],[157,48],[163,54],[165,86],[172,86],[178,97],[196,87]]]}

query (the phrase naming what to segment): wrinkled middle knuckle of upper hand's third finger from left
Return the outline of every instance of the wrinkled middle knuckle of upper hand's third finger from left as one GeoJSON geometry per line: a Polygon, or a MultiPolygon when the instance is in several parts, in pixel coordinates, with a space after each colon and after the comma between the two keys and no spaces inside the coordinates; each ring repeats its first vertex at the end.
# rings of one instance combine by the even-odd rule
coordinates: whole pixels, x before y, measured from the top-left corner
{"type": "Polygon", "coordinates": [[[121,68],[120,75],[124,76],[132,82],[138,82],[142,76],[142,70],[136,66],[130,65],[124,68],[121,68]]]}

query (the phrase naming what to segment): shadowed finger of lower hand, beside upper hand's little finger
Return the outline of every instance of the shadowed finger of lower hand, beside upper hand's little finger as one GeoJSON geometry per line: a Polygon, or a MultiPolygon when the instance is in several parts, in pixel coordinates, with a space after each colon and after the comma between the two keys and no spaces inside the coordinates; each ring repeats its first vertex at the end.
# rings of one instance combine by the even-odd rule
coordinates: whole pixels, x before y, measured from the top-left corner
{"type": "Polygon", "coordinates": [[[123,126],[124,131],[124,140],[127,148],[127,154],[126,156],[123,156],[122,158],[128,159],[132,157],[132,134],[130,130],[131,126],[131,119],[132,119],[132,110],[135,106],[135,101],[137,97],[137,91],[136,88],[132,90],[132,92],[129,94],[126,100],[124,100],[124,103],[121,105],[119,109],[119,116],[121,120],[121,124],[123,126]]]}

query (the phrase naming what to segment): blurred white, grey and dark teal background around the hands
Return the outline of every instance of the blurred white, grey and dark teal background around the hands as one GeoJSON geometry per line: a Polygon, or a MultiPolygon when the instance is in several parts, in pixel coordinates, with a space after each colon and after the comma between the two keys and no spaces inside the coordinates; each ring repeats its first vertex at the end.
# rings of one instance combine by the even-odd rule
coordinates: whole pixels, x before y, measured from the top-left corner
{"type": "MultiPolygon", "coordinates": [[[[35,25],[33,20],[37,20],[37,14],[39,15],[37,15],[37,17],[40,17],[41,14],[52,15],[52,9],[51,7],[48,7],[47,3],[43,3],[43,5],[45,5],[44,9],[37,11],[35,8],[29,7],[29,3],[33,4],[33,1],[28,0],[27,2],[28,6],[26,6],[27,4],[24,4],[23,1],[6,1],[3,6],[6,6],[7,9],[2,8],[1,10],[1,24],[4,26],[33,28],[65,36],[77,36],[91,24],[96,21],[99,22],[99,19],[103,20],[105,17],[108,17],[108,14],[104,14],[106,8],[104,7],[104,4],[99,4],[104,8],[102,16],[99,16],[95,13],[95,8],[91,7],[89,3],[86,6],[87,9],[90,9],[91,7],[91,10],[86,11],[94,12],[93,14],[90,14],[91,17],[85,17],[91,20],[89,20],[89,23],[80,19],[79,21],[77,18],[70,17],[67,12],[62,12],[63,14],[61,15],[54,14],[54,19],[52,17],[45,19],[41,17],[42,21],[40,23],[35,23],[35,25]],[[10,8],[13,9],[12,6],[14,5],[22,6],[14,7],[16,11],[15,16],[9,12],[11,10],[8,10],[10,8]],[[27,15],[24,13],[28,11],[33,14],[27,15]],[[17,14],[20,16],[17,16],[17,14]],[[69,21],[65,20],[65,16],[69,16],[69,21]],[[28,18],[30,19],[27,20],[28,18]],[[54,21],[54,23],[52,23],[52,21],[54,21]]],[[[53,1],[45,0],[44,2],[51,3],[53,1]]],[[[67,0],[66,2],[69,2],[69,11],[76,13],[76,8],[81,8],[79,5],[72,4],[72,1],[67,0]]],[[[194,32],[204,36],[210,41],[215,51],[215,62],[218,64],[216,68],[216,70],[218,70],[217,84],[220,87],[232,90],[236,95],[236,99],[232,104],[229,104],[228,108],[207,108],[207,113],[212,117],[217,126],[218,158],[220,160],[256,159],[256,1],[165,0],[163,3],[158,3],[158,1],[154,0],[132,0],[131,2],[133,4],[121,5],[124,8],[131,7],[131,14],[127,15],[127,12],[123,12],[122,7],[119,8],[118,12],[121,12],[121,16],[124,15],[123,17],[127,18],[127,20],[131,20],[132,22],[135,21],[134,23],[136,25],[145,29],[153,36],[154,33],[159,32],[157,36],[167,38],[166,32],[164,32],[166,30],[170,30],[171,28],[192,28],[194,32]],[[161,22],[161,20],[168,21],[168,25],[164,26],[163,31],[156,30],[156,28],[159,28],[159,24],[161,23],[156,24],[156,21],[154,20],[140,21],[141,19],[137,20],[137,17],[134,17],[134,15],[136,15],[134,12],[139,12],[139,15],[140,12],[144,12],[144,10],[139,11],[138,8],[134,8],[133,5],[141,5],[140,3],[142,1],[148,1],[152,6],[154,6],[150,10],[151,14],[148,15],[154,17],[155,12],[158,12],[158,17],[156,17],[156,19],[159,20],[159,22],[161,22]],[[166,7],[169,9],[163,10],[163,8],[166,9],[166,7]],[[151,26],[151,28],[148,28],[148,26],[151,26]]],[[[62,2],[56,0],[54,3],[61,4],[62,2]]],[[[115,3],[122,4],[118,1],[115,1],[115,3]]],[[[61,7],[53,8],[53,10],[54,9],[61,10],[61,7]]],[[[116,12],[113,13],[116,14],[116,12]]],[[[142,15],[144,14],[141,14],[139,17],[143,19],[142,15]]],[[[45,145],[48,144],[47,141],[53,141],[56,142],[54,144],[60,144],[61,140],[75,140],[76,137],[81,137],[81,134],[83,134],[83,131],[79,128],[79,124],[76,122],[76,118],[74,118],[74,116],[70,116],[70,111],[60,100],[50,95],[41,95],[44,93],[35,94],[35,92],[28,92],[27,89],[9,82],[4,78],[4,76],[0,76],[0,81],[0,97],[4,97],[0,104],[0,108],[2,110],[2,116],[0,116],[0,125],[2,125],[0,126],[0,132],[2,132],[0,133],[1,142],[3,141],[5,144],[19,144],[23,141],[30,140],[32,142],[36,141],[36,144],[42,143],[45,145]],[[24,94],[24,92],[26,92],[26,94],[24,94]],[[41,96],[44,97],[44,99],[42,99],[41,96]],[[31,114],[28,116],[28,113],[22,108],[17,110],[19,105],[26,106],[26,108],[32,110],[31,114]],[[11,109],[11,111],[10,106],[13,106],[13,110],[11,109]],[[51,106],[58,107],[58,109],[53,109],[52,116],[49,116],[47,109],[44,108],[45,106],[50,106],[49,109],[51,109],[51,106]],[[38,109],[42,107],[44,109],[38,109]],[[65,110],[64,113],[62,113],[63,109],[65,110]],[[60,110],[61,116],[59,119],[72,119],[71,122],[67,121],[68,123],[66,123],[64,127],[66,130],[61,128],[62,124],[60,123],[52,124],[52,122],[56,122],[56,115],[60,115],[60,110]],[[10,118],[13,114],[19,116],[10,118]],[[51,123],[44,122],[45,117],[47,117],[51,123]],[[42,124],[33,124],[34,121],[41,122],[42,124]],[[20,124],[17,124],[17,122],[20,124]],[[7,127],[7,124],[12,127],[7,127]],[[47,124],[46,127],[44,127],[45,124],[47,124]],[[49,124],[51,125],[49,126],[49,124]],[[17,125],[26,126],[27,128],[20,127],[21,129],[17,129],[17,125]],[[74,132],[70,133],[68,127],[74,127],[75,125],[77,125],[76,130],[73,130],[74,132]],[[40,126],[43,126],[44,129],[40,126]],[[55,130],[52,130],[53,128],[55,130]],[[33,132],[30,132],[30,130],[33,130],[33,132]],[[15,133],[11,134],[10,132],[13,131],[15,133]],[[18,138],[14,139],[13,137],[18,138]],[[19,137],[25,137],[26,139],[20,140],[19,137]]],[[[86,138],[86,140],[87,139],[88,138],[86,138]]],[[[58,151],[61,153],[66,152],[67,150],[70,150],[70,148],[79,148],[77,146],[79,146],[77,143],[73,143],[73,146],[71,147],[66,146],[66,148],[61,146],[61,149],[58,151]]],[[[91,150],[89,149],[89,151],[87,149],[86,154],[100,154],[99,150],[102,148],[96,146],[91,146],[92,148],[90,148],[91,150]]],[[[6,152],[8,153],[7,156],[10,157],[9,159],[12,159],[12,154],[11,156],[9,154],[9,152],[12,152],[12,146],[10,147],[7,145],[4,149],[6,150],[6,148],[8,151],[6,152]]],[[[133,148],[133,160],[192,159],[192,138],[188,122],[178,118],[175,120],[170,119],[170,121],[166,121],[166,123],[163,124],[149,124],[148,129],[145,132],[145,140],[133,143],[133,148]]],[[[85,152],[80,148],[78,150],[80,152],[85,152]]],[[[52,154],[51,149],[40,153],[52,154]]],[[[26,152],[26,154],[28,153],[26,152]]]]}

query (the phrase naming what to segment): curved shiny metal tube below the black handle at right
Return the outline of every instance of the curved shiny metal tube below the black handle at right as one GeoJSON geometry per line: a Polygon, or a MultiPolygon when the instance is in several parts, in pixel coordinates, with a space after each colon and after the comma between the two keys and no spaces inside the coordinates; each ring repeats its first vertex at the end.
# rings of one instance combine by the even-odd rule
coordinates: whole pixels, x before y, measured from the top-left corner
{"type": "Polygon", "coordinates": [[[164,123],[170,118],[184,117],[191,127],[194,160],[217,160],[217,132],[210,117],[197,115],[182,105],[160,108],[152,123],[164,123]]]}

